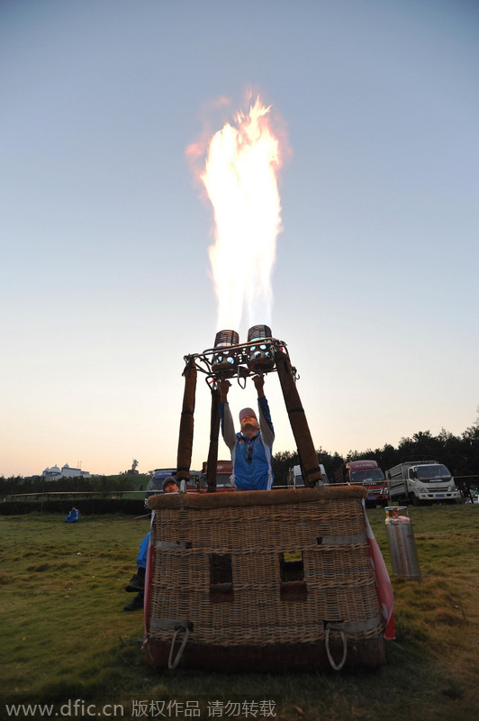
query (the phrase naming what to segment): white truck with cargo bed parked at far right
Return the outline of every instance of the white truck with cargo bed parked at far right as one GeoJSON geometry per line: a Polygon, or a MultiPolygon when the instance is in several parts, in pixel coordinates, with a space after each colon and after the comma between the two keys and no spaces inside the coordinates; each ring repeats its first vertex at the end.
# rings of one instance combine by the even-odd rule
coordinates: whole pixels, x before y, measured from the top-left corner
{"type": "Polygon", "coordinates": [[[460,493],[450,471],[438,461],[406,461],[386,470],[390,503],[409,501],[414,506],[432,501],[456,503],[460,493]]]}

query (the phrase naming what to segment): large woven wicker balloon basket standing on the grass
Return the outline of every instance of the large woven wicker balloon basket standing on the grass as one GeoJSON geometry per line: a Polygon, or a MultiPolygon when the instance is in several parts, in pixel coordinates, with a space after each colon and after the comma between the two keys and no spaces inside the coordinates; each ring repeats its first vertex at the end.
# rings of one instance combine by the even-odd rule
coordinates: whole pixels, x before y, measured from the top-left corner
{"type": "Polygon", "coordinates": [[[150,497],[148,662],[221,671],[383,663],[365,495],[323,487],[150,497]]]}

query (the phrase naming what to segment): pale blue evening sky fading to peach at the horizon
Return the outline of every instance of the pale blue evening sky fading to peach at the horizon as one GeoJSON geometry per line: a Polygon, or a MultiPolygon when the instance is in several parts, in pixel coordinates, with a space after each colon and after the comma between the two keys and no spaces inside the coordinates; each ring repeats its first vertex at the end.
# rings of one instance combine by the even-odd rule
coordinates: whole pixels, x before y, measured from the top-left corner
{"type": "MultiPolygon", "coordinates": [[[[478,31],[474,0],[2,0],[0,475],[176,465],[184,357],[217,331],[185,151],[249,88],[290,148],[271,328],[315,448],[474,424],[478,31]]],[[[200,375],[192,469],[210,398],[200,375]]]]}

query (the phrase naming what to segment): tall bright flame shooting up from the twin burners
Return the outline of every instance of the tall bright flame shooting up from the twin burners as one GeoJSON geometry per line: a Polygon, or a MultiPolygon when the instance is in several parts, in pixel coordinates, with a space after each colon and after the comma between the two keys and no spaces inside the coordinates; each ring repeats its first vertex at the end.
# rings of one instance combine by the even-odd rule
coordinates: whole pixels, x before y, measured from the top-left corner
{"type": "Polygon", "coordinates": [[[269,110],[257,98],[249,114],[237,115],[235,127],[226,123],[216,132],[201,174],[215,222],[209,257],[219,330],[238,330],[245,308],[249,325],[271,322],[271,276],[282,225],[280,144],[269,110]]]}

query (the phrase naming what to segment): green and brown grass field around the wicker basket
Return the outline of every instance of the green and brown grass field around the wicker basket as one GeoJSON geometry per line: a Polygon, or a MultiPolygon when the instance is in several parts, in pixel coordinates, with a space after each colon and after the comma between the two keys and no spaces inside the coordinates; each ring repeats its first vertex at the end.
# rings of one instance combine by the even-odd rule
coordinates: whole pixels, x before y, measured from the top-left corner
{"type": "MultiPolygon", "coordinates": [[[[391,570],[384,510],[368,516],[391,570]]],[[[146,517],[67,525],[63,516],[0,516],[0,718],[14,717],[6,704],[30,703],[84,718],[475,721],[479,507],[412,507],[410,516],[422,579],[393,579],[397,638],[386,644],[385,665],[277,676],[146,665],[142,613],[122,610],[146,517]]],[[[50,717],[31,710],[17,708],[16,717],[50,717]]]]}

